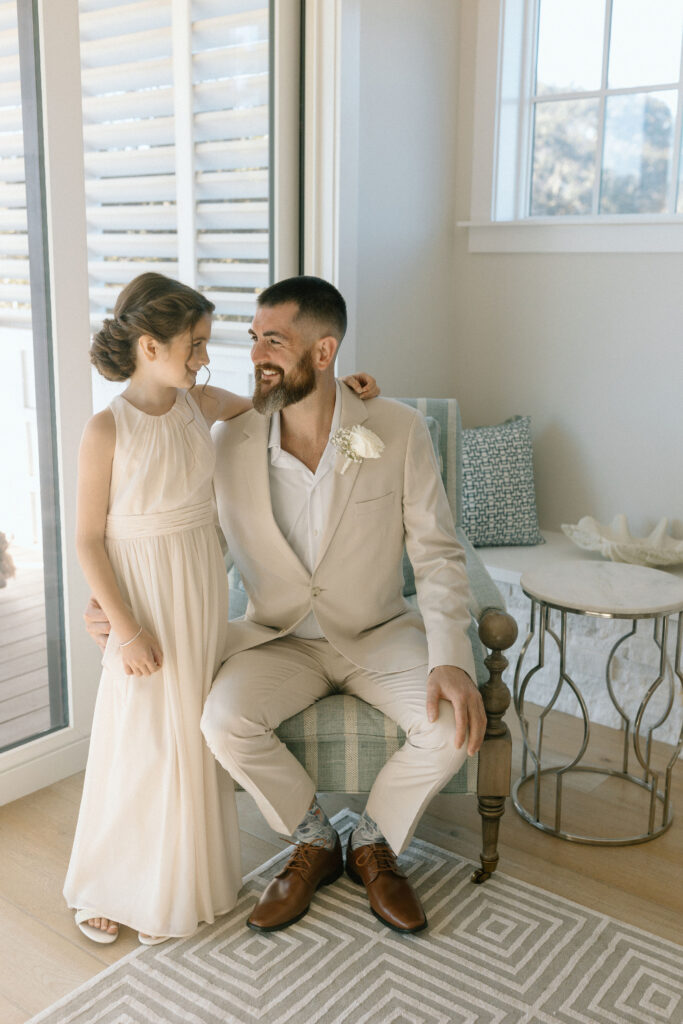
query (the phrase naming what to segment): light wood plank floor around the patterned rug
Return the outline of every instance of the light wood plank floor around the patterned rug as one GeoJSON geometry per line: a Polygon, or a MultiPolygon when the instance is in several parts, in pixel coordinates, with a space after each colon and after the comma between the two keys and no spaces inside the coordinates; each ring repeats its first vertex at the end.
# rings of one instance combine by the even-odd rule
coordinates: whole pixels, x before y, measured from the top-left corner
{"type": "MultiPolygon", "coordinates": [[[[594,735],[601,762],[618,756],[618,733],[603,728],[594,735]]],[[[558,755],[572,749],[575,722],[562,716],[551,739],[549,749],[558,755]]],[[[519,750],[517,738],[515,775],[519,774],[519,750]]],[[[674,792],[678,818],[666,835],[640,846],[605,849],[567,843],[530,827],[508,805],[502,822],[501,870],[683,943],[683,766],[679,764],[678,769],[674,792]]],[[[601,782],[597,776],[586,776],[580,782],[577,800],[584,820],[596,828],[622,827],[631,794],[622,799],[612,792],[610,781],[601,782]]],[[[81,785],[82,775],[75,775],[0,807],[2,1024],[24,1024],[137,945],[127,929],[114,945],[94,945],[77,930],[63,905],[61,885],[81,785]]],[[[247,872],[285,843],[270,831],[246,794],[239,794],[238,800],[247,872]]],[[[346,806],[361,810],[364,805],[360,797],[339,795],[325,797],[322,802],[328,814],[346,806]]],[[[469,797],[437,798],[418,836],[478,860],[476,801],[469,797]]]]}

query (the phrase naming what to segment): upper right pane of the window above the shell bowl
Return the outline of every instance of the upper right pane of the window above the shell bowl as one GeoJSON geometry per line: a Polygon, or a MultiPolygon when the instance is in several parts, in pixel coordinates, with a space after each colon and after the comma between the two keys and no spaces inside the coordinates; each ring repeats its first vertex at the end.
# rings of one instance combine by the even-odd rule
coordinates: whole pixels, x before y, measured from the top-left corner
{"type": "Polygon", "coordinates": [[[608,87],[678,82],[681,0],[613,0],[608,87]]]}

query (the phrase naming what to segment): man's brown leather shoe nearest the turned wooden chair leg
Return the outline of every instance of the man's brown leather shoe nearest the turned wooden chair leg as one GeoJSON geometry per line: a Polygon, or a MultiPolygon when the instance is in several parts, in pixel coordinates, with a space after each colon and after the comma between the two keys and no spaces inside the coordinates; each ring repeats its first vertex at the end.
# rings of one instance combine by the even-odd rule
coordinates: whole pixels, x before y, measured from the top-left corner
{"type": "Polygon", "coordinates": [[[352,850],[349,836],[346,873],[352,882],[366,887],[370,909],[394,932],[421,932],[427,927],[422,904],[386,843],[352,850]]]}

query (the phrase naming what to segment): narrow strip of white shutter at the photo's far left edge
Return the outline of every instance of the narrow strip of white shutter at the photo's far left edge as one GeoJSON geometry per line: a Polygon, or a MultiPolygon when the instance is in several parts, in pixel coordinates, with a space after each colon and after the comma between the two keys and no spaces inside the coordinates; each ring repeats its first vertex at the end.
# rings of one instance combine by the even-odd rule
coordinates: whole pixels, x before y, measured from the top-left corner
{"type": "Polygon", "coordinates": [[[0,327],[31,326],[16,0],[0,2],[0,327]]]}

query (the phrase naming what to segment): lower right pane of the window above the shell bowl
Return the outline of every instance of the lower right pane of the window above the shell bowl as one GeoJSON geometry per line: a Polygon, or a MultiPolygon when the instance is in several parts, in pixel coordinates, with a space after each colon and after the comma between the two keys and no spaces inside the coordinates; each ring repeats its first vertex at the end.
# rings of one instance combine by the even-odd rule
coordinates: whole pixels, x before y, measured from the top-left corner
{"type": "Polygon", "coordinates": [[[600,213],[665,213],[676,92],[611,96],[605,110],[600,213]]]}

